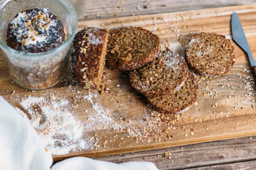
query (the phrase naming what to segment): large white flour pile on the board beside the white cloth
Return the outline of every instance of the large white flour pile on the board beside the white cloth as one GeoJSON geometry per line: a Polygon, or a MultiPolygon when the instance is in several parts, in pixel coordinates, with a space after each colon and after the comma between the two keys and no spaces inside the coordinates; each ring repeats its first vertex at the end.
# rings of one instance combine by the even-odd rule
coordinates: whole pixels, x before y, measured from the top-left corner
{"type": "MultiPolygon", "coordinates": [[[[53,155],[68,154],[77,149],[88,149],[93,144],[82,139],[83,124],[65,109],[68,101],[54,93],[49,98],[31,97],[20,102],[28,111],[32,126],[38,131],[53,155]]],[[[27,115],[16,108],[24,117],[27,115]]]]}

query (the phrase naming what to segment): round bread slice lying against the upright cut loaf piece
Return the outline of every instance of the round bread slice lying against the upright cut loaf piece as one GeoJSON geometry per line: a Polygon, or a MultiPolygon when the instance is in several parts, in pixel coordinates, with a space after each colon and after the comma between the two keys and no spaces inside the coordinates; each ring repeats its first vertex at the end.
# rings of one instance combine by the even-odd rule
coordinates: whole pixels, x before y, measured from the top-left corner
{"type": "Polygon", "coordinates": [[[106,60],[123,71],[138,69],[156,58],[160,39],[141,27],[118,29],[109,38],[106,60]]]}

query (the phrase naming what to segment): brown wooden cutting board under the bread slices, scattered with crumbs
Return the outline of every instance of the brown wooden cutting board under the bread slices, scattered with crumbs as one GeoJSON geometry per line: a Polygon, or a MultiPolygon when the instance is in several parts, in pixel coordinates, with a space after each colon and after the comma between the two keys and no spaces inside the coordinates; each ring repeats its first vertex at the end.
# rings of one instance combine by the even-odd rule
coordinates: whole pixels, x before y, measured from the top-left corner
{"type": "MultiPolygon", "coordinates": [[[[200,82],[197,105],[185,112],[178,120],[177,118],[170,118],[174,120],[172,127],[175,127],[168,132],[172,136],[171,139],[167,138],[167,134],[163,132],[166,128],[164,123],[161,124],[162,129],[160,131],[154,132],[159,138],[161,137],[161,142],[156,142],[154,139],[151,139],[150,142],[147,142],[147,139],[144,142],[136,142],[131,137],[127,138],[125,130],[118,131],[99,125],[96,128],[87,130],[85,135],[85,138],[87,138],[97,132],[100,143],[100,147],[97,150],[87,149],[79,152],[70,152],[68,155],[53,156],[54,160],[58,161],[73,156],[98,157],[256,135],[256,109],[253,108],[253,105],[256,106],[256,97],[255,95],[250,96],[246,100],[245,96],[247,92],[255,93],[255,87],[252,90],[244,89],[245,82],[248,81],[244,77],[250,75],[244,69],[250,70],[250,65],[245,53],[234,43],[231,37],[230,18],[234,12],[239,14],[244,32],[252,47],[252,52],[256,56],[256,5],[80,21],[78,30],[93,26],[106,27],[110,32],[113,32],[120,27],[141,26],[157,34],[163,47],[168,47],[170,50],[180,54],[183,54],[185,49],[185,46],[182,45],[186,43],[191,35],[200,32],[214,32],[231,39],[235,47],[237,60],[226,75],[209,80],[207,87],[209,91],[212,91],[213,96],[217,95],[217,97],[212,98],[202,93],[207,78],[197,76],[200,82]],[[218,103],[218,106],[213,107],[216,103],[218,103]],[[185,129],[182,127],[185,127],[185,129]],[[98,131],[95,131],[95,129],[98,129],[98,131]],[[192,130],[194,135],[191,135],[192,130]],[[187,134],[187,137],[185,134],[187,134]],[[108,140],[108,143],[104,148],[102,143],[105,140],[108,140]]],[[[122,126],[129,124],[139,129],[147,126],[139,122],[143,122],[144,117],[149,117],[150,108],[147,106],[147,102],[143,100],[143,96],[136,93],[130,86],[127,74],[122,71],[111,70],[108,66],[104,68],[104,71],[109,74],[106,74],[102,81],[110,89],[111,93],[98,94],[98,103],[113,113],[114,121],[122,126]],[[120,86],[117,87],[117,84],[120,86]],[[127,121],[120,122],[124,118],[126,120],[130,119],[129,123],[127,121]]],[[[0,95],[19,108],[20,98],[26,94],[40,96],[42,93],[57,92],[58,95],[63,95],[67,92],[66,99],[70,103],[72,103],[72,98],[77,95],[77,93],[71,92],[68,88],[68,85],[72,83],[70,68],[65,81],[48,90],[36,92],[26,91],[12,83],[3,57],[0,58],[0,73],[0,95]],[[20,98],[10,99],[13,90],[20,98]]],[[[83,89],[79,89],[79,91],[81,94],[87,93],[83,89]]],[[[70,110],[86,125],[86,117],[94,112],[92,105],[84,103],[84,101],[77,102],[77,104],[77,109],[71,110],[70,106],[70,110]],[[84,110],[89,110],[89,112],[84,110]]]]}

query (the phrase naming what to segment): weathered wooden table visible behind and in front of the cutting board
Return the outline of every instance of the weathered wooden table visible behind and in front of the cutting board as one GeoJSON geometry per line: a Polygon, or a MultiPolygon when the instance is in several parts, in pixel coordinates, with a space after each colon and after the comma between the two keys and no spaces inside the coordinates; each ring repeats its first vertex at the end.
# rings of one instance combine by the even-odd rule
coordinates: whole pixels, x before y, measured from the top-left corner
{"type": "MultiPolygon", "coordinates": [[[[255,4],[255,0],[127,0],[124,3],[146,4],[151,8],[106,8],[105,3],[122,3],[122,1],[94,0],[83,18],[79,20],[93,20],[121,16],[155,14],[185,10],[197,10],[213,7],[255,4]]],[[[150,161],[159,169],[255,169],[256,167],[256,136],[206,142],[196,145],[185,145],[154,149],[134,153],[112,155],[94,158],[115,163],[128,161],[150,161]],[[172,153],[174,160],[163,157],[164,153],[172,153]],[[176,158],[177,157],[177,158],[176,158]]]]}

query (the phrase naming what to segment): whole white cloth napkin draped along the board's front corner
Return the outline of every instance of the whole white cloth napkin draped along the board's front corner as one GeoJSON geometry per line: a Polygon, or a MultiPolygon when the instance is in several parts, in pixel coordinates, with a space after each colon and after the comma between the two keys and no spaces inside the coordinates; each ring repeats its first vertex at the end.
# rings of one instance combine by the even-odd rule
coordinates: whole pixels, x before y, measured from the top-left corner
{"type": "Polygon", "coordinates": [[[52,155],[27,118],[23,118],[0,96],[0,169],[5,170],[156,170],[151,162],[115,164],[86,157],[74,157],[52,166],[52,155]],[[52,167],[51,167],[52,166],[52,167]],[[50,168],[51,167],[51,168],[50,168]]]}

